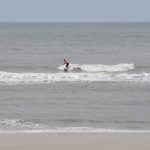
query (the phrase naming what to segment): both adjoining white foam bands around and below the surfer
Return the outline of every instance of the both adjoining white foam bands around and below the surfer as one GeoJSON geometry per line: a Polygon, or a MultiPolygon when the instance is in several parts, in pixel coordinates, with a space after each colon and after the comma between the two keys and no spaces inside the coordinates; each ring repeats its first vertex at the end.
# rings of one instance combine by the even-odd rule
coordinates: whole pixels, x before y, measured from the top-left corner
{"type": "MultiPolygon", "coordinates": [[[[63,70],[64,66],[59,66],[63,70]]],[[[134,64],[75,65],[69,72],[59,73],[13,73],[0,72],[0,84],[50,84],[55,82],[150,82],[150,73],[130,73],[134,64]],[[80,71],[79,71],[80,70],[80,71]]]]}

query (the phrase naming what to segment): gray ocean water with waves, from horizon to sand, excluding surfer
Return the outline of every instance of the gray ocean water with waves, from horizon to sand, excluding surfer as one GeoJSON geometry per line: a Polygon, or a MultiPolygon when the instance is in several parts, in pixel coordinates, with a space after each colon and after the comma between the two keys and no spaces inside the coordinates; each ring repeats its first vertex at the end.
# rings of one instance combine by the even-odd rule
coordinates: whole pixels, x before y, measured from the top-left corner
{"type": "Polygon", "coordinates": [[[150,23],[0,23],[0,133],[150,133],[149,48],[150,23]]]}

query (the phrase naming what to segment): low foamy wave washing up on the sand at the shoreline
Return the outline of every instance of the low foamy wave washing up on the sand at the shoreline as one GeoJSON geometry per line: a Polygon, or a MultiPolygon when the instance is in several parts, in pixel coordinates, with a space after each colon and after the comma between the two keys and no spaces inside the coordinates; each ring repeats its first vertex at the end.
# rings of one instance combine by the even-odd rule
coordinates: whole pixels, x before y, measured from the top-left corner
{"type": "Polygon", "coordinates": [[[150,130],[123,130],[93,127],[50,127],[22,119],[0,119],[0,133],[150,133],[150,130]]]}

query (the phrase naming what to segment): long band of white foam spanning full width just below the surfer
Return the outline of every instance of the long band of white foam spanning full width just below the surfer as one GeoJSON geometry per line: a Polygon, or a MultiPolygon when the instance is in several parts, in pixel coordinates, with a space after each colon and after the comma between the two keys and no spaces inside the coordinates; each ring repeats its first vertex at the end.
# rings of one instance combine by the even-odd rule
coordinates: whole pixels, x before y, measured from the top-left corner
{"type": "Polygon", "coordinates": [[[0,72],[0,84],[50,84],[54,82],[148,82],[150,73],[11,73],[0,72]]]}

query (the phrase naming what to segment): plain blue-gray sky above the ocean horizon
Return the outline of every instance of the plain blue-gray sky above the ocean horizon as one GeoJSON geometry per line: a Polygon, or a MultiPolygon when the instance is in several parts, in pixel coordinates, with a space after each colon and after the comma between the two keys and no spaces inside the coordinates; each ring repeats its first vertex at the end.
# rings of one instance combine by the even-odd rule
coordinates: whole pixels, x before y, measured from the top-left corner
{"type": "Polygon", "coordinates": [[[150,0],[0,0],[0,22],[150,22],[150,0]]]}

